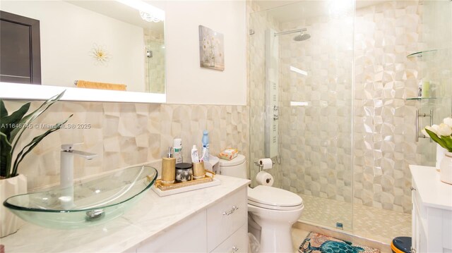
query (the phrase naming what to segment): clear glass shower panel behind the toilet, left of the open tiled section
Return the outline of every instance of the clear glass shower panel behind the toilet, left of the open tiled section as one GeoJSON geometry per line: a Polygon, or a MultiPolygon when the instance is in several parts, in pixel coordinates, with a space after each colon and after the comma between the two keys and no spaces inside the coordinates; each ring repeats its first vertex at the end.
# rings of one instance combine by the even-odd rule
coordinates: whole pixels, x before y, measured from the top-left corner
{"type": "Polygon", "coordinates": [[[250,17],[251,178],[258,172],[252,162],[269,156],[274,186],[303,198],[302,220],[346,230],[354,10],[353,1],[300,1],[250,17]]]}

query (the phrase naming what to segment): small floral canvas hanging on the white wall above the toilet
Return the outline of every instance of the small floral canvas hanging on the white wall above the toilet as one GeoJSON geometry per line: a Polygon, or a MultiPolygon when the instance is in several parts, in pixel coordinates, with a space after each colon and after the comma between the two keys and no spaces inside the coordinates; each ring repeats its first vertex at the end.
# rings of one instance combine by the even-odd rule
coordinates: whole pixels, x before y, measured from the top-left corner
{"type": "Polygon", "coordinates": [[[220,32],[199,25],[199,65],[225,70],[225,43],[220,32]]]}

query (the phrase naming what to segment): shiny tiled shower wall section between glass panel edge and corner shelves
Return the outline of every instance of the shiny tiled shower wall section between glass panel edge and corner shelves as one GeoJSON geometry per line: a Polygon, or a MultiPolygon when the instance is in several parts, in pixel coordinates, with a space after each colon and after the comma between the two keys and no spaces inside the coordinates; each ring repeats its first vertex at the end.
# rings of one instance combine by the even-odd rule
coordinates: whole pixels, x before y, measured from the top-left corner
{"type": "MultiPolygon", "coordinates": [[[[355,203],[411,212],[409,164],[420,162],[415,142],[416,105],[422,78],[406,58],[421,42],[422,5],[388,1],[356,12],[355,203]]],[[[422,140],[421,140],[422,141],[422,140]]]]}

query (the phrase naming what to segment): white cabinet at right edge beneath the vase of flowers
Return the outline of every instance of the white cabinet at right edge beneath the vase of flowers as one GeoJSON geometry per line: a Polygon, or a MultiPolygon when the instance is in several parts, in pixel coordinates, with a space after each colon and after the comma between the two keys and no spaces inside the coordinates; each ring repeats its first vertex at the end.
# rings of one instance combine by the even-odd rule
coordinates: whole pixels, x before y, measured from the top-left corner
{"type": "Polygon", "coordinates": [[[452,185],[434,167],[410,165],[412,253],[452,252],[452,185]]]}

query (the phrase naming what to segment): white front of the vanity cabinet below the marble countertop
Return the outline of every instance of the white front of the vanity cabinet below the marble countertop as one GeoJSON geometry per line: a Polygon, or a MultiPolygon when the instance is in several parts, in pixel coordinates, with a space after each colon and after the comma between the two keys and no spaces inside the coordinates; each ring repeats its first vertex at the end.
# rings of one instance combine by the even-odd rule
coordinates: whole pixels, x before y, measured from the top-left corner
{"type": "Polygon", "coordinates": [[[145,240],[143,252],[247,252],[246,186],[145,240]]]}

